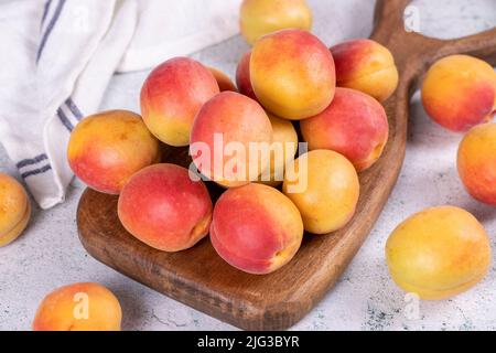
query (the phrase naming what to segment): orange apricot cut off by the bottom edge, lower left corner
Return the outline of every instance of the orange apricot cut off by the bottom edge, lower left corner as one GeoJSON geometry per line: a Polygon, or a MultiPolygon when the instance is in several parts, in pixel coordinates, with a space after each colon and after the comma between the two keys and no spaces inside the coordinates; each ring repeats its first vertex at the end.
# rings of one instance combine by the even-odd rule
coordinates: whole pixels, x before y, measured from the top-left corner
{"type": "Polygon", "coordinates": [[[74,284],[46,296],[33,331],[120,331],[119,300],[98,284],[74,284]]]}

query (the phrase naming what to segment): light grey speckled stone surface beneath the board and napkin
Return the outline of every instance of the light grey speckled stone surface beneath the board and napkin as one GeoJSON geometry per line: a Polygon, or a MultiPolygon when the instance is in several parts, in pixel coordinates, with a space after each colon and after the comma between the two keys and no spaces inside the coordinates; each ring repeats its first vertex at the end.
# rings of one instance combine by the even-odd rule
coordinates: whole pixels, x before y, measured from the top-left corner
{"type": "MultiPolygon", "coordinates": [[[[309,0],[314,33],[327,45],[368,36],[373,0],[309,0]]],[[[414,1],[420,29],[438,38],[473,34],[496,25],[494,0],[414,1]]],[[[240,36],[193,55],[234,76],[248,45],[240,36]]],[[[101,109],[139,111],[139,90],[147,72],[116,75],[101,109]]],[[[405,164],[392,195],[374,231],[339,282],[293,327],[296,330],[477,330],[496,329],[496,271],[456,298],[420,302],[419,315],[407,314],[405,293],[391,281],[384,256],[386,239],[408,215],[428,206],[451,204],[484,223],[496,254],[496,208],[464,191],[455,170],[461,135],[430,121],[417,94],[405,164]]],[[[61,148],[64,148],[61,146],[61,148]]],[[[0,148],[0,171],[19,178],[0,148]]],[[[0,248],[0,330],[30,330],[37,304],[53,289],[77,281],[110,288],[123,309],[125,330],[233,330],[235,328],[169,299],[93,259],[79,244],[76,206],[84,186],[74,182],[67,201],[50,211],[34,210],[28,231],[0,248]]],[[[414,313],[414,310],[413,310],[414,313]]]]}

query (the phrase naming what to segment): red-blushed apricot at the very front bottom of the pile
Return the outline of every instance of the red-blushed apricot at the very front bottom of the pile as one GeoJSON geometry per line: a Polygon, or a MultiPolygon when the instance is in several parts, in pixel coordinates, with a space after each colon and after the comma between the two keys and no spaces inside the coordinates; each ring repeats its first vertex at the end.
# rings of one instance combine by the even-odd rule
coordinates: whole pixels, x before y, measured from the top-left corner
{"type": "Polygon", "coordinates": [[[298,208],[273,188],[249,184],[229,189],[215,205],[212,245],[242,271],[263,275],[281,268],[296,254],[302,237],[298,208]]]}

